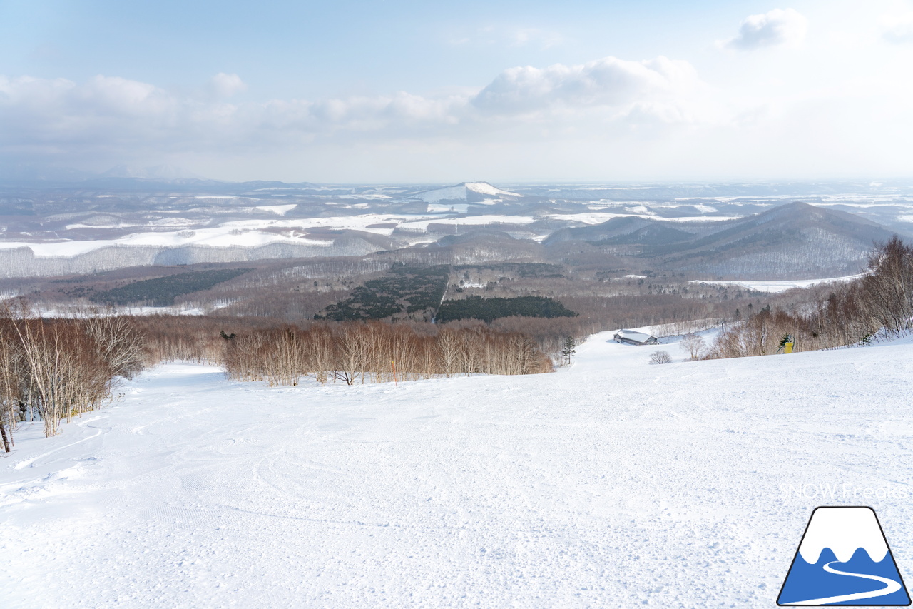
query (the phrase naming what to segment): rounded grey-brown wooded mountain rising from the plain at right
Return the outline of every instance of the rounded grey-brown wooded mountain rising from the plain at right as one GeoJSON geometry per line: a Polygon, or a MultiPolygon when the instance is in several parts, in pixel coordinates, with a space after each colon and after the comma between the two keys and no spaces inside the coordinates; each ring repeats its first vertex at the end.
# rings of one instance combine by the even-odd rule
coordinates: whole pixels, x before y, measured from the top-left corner
{"type": "Polygon", "coordinates": [[[557,230],[544,245],[585,241],[665,271],[744,278],[827,276],[860,271],[873,244],[893,234],[843,211],[789,203],[723,221],[614,218],[596,226],[557,230]]]}

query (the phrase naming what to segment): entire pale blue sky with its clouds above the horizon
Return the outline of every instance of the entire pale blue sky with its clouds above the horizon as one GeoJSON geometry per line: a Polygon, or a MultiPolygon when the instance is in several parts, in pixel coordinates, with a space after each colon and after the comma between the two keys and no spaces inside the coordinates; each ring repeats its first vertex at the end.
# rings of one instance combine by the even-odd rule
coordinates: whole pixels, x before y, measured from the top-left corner
{"type": "Polygon", "coordinates": [[[0,1],[0,164],[909,176],[913,5],[0,1]]]}

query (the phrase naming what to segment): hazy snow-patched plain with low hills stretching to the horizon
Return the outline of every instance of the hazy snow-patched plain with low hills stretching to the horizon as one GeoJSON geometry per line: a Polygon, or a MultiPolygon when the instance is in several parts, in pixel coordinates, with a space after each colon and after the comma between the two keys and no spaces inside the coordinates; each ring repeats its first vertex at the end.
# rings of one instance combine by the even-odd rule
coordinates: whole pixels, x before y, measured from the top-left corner
{"type": "Polygon", "coordinates": [[[858,272],[913,233],[904,184],[319,185],[113,167],[0,184],[0,275],[362,257],[560,262],[700,278],[858,272]],[[852,212],[852,213],[851,213],[852,212]]]}

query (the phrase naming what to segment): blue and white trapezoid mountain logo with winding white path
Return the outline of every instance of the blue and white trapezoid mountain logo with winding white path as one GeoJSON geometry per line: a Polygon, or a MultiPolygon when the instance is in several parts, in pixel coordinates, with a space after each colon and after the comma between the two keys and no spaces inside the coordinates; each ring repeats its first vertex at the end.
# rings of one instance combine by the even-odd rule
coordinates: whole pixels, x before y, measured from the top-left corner
{"type": "Polygon", "coordinates": [[[875,510],[815,508],[777,604],[908,606],[875,510]]]}

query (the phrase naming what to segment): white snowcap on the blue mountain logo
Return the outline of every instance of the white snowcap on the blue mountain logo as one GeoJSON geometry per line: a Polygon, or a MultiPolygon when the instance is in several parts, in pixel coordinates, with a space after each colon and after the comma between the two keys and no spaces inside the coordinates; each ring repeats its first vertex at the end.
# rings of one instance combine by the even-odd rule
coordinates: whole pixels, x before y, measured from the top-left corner
{"type": "Polygon", "coordinates": [[[876,562],[887,555],[887,543],[870,508],[816,509],[799,553],[803,561],[814,564],[824,548],[830,548],[841,562],[849,561],[860,548],[876,562]]]}

